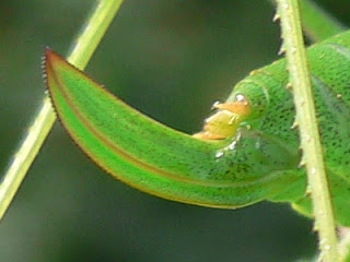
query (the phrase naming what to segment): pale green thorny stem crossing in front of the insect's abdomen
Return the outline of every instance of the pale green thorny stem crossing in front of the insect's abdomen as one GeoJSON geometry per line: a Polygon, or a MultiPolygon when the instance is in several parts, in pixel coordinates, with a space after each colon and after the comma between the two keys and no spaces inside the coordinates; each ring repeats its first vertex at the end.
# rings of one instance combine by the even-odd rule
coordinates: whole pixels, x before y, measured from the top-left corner
{"type": "Polygon", "coordinates": [[[296,109],[302,165],[306,165],[307,181],[313,202],[315,229],[319,234],[320,261],[338,262],[337,235],[323,147],[316,120],[316,110],[301,28],[298,0],[277,0],[278,15],[281,19],[283,49],[288,59],[290,83],[296,109]]]}

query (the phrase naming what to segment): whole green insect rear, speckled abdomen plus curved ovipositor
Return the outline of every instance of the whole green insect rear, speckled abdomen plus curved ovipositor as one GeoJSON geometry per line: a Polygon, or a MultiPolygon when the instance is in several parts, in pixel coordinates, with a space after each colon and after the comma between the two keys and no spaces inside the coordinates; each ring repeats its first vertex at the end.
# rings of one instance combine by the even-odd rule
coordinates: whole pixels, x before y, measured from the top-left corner
{"type": "MultiPolygon", "coordinates": [[[[350,33],[308,49],[337,221],[350,225],[350,33]]],[[[127,106],[51,50],[47,86],[61,122],[103,169],[170,200],[235,209],[261,200],[311,214],[285,61],[241,81],[194,136],[127,106]]]]}

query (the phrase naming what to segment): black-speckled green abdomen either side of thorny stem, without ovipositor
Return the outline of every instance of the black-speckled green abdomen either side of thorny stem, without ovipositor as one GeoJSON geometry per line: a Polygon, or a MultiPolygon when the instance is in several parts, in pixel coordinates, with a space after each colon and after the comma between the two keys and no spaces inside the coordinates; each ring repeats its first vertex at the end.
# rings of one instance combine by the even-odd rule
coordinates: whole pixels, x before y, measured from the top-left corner
{"type": "MultiPolygon", "coordinates": [[[[313,46],[307,50],[307,55],[335,211],[338,222],[349,225],[350,32],[313,46]]],[[[254,129],[278,138],[289,148],[298,150],[296,133],[291,130],[294,109],[291,93],[285,88],[288,75],[284,69],[285,61],[281,60],[256,71],[237,85],[231,97],[237,93],[249,96],[252,83],[265,88],[268,94],[265,115],[248,121],[252,121],[254,129]]],[[[295,205],[303,213],[311,213],[310,199],[305,194],[295,201],[295,205]]]]}

